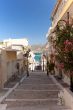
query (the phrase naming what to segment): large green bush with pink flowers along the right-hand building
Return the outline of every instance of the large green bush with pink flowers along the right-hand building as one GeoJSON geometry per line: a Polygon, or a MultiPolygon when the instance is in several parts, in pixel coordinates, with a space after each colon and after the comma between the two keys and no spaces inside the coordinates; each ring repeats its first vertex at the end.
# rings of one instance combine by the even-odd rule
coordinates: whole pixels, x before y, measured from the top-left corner
{"type": "Polygon", "coordinates": [[[55,32],[57,60],[65,70],[73,71],[73,27],[65,24],[61,28],[57,25],[55,32]]]}

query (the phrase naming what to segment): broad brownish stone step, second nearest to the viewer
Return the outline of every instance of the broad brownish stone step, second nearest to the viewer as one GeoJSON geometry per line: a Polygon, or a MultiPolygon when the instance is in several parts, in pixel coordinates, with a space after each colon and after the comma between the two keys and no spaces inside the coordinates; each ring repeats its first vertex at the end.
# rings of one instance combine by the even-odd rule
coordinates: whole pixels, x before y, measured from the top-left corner
{"type": "Polygon", "coordinates": [[[13,91],[7,98],[15,99],[46,99],[57,98],[58,91],[13,91]]]}

